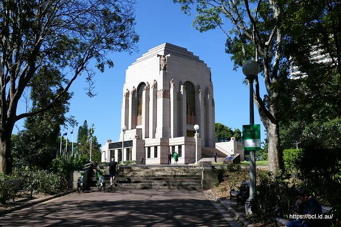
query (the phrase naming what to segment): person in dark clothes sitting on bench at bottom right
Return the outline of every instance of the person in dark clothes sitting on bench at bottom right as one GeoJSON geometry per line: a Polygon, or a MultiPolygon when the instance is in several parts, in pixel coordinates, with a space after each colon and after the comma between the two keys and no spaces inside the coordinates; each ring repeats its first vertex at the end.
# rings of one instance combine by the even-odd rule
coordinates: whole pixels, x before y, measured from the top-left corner
{"type": "Polygon", "coordinates": [[[294,210],[296,220],[289,222],[287,227],[320,227],[319,221],[321,220],[309,218],[309,215],[316,215],[317,218],[319,214],[322,214],[322,208],[317,199],[301,188],[297,189],[296,197],[298,198],[294,210]]]}

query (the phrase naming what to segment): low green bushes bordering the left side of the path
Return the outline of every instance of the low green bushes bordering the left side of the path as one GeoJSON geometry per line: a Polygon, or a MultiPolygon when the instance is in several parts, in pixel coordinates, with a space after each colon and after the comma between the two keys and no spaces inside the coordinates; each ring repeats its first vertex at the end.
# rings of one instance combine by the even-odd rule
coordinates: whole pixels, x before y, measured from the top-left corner
{"type": "Polygon", "coordinates": [[[15,168],[12,179],[21,179],[23,185],[30,185],[35,192],[57,194],[67,188],[65,176],[38,168],[15,168]]]}

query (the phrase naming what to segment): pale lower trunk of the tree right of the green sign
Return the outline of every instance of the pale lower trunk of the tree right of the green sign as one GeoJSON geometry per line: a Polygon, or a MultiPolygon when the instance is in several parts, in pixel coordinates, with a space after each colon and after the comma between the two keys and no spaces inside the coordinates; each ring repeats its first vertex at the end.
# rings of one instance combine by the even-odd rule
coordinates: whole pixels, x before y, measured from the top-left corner
{"type": "Polygon", "coordinates": [[[281,169],[282,153],[279,147],[279,125],[268,121],[266,125],[267,132],[267,151],[269,159],[269,171],[277,173],[281,169]]]}

